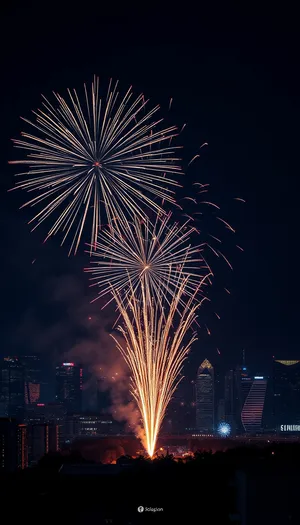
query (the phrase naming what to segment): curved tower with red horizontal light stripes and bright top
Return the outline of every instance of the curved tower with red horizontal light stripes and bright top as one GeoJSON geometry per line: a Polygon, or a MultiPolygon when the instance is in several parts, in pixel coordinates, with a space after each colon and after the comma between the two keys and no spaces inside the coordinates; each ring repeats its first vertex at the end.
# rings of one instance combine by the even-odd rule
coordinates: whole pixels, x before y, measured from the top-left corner
{"type": "Polygon", "coordinates": [[[241,412],[241,420],[247,434],[262,431],[262,417],[267,390],[267,379],[254,376],[241,412]]]}

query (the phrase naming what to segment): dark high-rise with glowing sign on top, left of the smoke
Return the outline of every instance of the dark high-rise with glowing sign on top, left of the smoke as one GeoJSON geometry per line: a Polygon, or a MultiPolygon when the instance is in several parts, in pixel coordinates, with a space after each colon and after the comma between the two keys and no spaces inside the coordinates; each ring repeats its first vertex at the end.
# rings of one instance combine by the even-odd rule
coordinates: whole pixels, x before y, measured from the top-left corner
{"type": "Polygon", "coordinates": [[[62,363],[56,367],[55,399],[68,413],[80,412],[82,408],[82,366],[62,363]]]}

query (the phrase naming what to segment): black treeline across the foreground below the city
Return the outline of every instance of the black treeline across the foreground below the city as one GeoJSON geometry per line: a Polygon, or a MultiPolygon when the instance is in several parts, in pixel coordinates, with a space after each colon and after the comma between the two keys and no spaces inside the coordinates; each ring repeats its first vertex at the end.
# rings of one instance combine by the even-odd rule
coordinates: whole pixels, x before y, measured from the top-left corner
{"type": "Polygon", "coordinates": [[[299,467],[298,444],[199,450],[184,460],[122,456],[116,465],[88,462],[79,452],[48,454],[6,476],[3,501],[20,502],[11,506],[13,520],[22,515],[21,502],[31,502],[49,523],[223,525],[243,523],[244,512],[249,525],[285,525],[299,523],[299,467]],[[163,511],[138,513],[139,506],[163,511]]]}

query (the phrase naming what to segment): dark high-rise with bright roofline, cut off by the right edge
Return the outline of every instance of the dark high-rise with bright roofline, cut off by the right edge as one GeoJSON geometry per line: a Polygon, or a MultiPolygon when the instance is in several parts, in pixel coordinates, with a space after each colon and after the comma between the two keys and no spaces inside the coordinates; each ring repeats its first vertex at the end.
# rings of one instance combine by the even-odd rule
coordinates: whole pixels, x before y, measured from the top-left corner
{"type": "Polygon", "coordinates": [[[300,424],[300,360],[273,360],[274,427],[300,424]]]}

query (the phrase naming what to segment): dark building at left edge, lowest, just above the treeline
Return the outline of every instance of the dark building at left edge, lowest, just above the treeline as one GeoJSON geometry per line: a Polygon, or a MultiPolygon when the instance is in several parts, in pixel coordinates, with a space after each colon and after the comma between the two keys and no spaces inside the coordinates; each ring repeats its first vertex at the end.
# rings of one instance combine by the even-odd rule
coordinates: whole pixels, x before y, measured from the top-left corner
{"type": "Polygon", "coordinates": [[[16,419],[0,418],[0,473],[28,466],[27,427],[16,419]]]}

